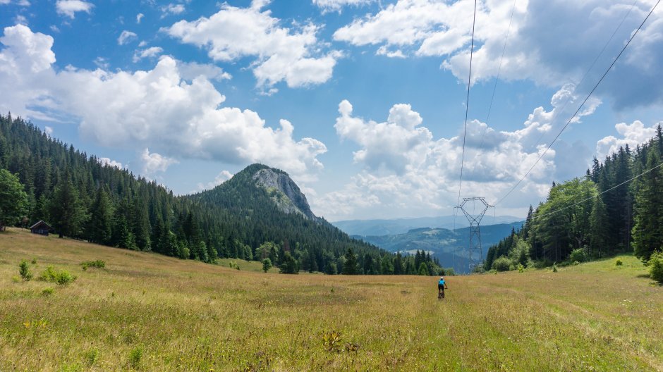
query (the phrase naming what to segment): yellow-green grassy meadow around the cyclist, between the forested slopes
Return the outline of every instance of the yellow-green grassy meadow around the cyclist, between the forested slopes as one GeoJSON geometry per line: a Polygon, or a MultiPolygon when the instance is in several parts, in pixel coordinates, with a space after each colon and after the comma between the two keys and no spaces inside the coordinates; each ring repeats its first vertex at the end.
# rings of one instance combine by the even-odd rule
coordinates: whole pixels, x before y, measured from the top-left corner
{"type": "Polygon", "coordinates": [[[0,371],[663,371],[663,288],[619,259],[449,277],[438,302],[430,277],[237,271],[10,229],[0,371]],[[78,279],[13,280],[22,259],[78,279]]]}

